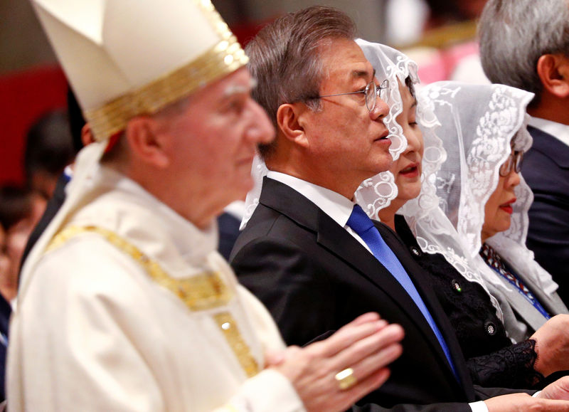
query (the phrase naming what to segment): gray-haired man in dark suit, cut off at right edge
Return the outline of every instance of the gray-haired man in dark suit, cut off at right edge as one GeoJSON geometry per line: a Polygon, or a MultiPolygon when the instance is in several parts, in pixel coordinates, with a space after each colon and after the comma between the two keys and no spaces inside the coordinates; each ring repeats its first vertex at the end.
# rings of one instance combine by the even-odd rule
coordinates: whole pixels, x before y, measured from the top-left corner
{"type": "Polygon", "coordinates": [[[479,24],[486,76],[536,94],[521,169],[535,196],[527,245],[569,304],[569,4],[489,0],[479,24]]]}

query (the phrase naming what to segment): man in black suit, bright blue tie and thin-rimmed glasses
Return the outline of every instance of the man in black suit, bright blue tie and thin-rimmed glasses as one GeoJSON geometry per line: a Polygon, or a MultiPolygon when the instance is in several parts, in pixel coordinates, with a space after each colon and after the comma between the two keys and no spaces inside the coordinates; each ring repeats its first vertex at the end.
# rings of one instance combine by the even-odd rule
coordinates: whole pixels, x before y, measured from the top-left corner
{"type": "Polygon", "coordinates": [[[509,391],[474,388],[425,273],[393,231],[354,207],[361,181],[392,159],[382,79],[353,35],[347,16],[316,6],[277,19],[249,43],[253,95],[277,138],[260,147],[269,172],[233,248],[233,268],[288,344],[322,339],[369,310],[403,326],[403,355],[381,389],[358,403],[366,410],[523,409],[518,401],[538,400],[521,393],[488,399],[509,391]],[[368,243],[374,231],[387,260],[368,243]]]}

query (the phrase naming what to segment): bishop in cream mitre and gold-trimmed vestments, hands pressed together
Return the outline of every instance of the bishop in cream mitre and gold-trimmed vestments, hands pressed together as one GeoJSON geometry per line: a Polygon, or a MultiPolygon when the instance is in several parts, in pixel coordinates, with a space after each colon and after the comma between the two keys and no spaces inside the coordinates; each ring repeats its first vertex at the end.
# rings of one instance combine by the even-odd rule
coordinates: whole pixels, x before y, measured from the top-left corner
{"type": "Polygon", "coordinates": [[[22,270],[10,410],[344,411],[381,386],[400,327],[366,314],[285,349],[215,250],[274,130],[211,3],[34,6],[97,142],[22,270]]]}

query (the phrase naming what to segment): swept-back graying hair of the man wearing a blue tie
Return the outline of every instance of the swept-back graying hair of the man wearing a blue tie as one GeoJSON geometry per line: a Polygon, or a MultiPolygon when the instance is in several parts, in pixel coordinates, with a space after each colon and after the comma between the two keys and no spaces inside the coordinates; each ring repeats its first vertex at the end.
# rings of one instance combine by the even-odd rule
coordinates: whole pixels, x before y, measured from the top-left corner
{"type": "MultiPolygon", "coordinates": [[[[267,111],[275,127],[277,110],[284,103],[304,102],[319,110],[317,97],[326,75],[320,48],[332,39],[355,37],[356,26],[343,11],[312,6],[281,16],[248,43],[248,67],[257,79],[252,97],[267,111]]],[[[276,140],[260,145],[261,156],[266,159],[275,144],[276,140]]]]}

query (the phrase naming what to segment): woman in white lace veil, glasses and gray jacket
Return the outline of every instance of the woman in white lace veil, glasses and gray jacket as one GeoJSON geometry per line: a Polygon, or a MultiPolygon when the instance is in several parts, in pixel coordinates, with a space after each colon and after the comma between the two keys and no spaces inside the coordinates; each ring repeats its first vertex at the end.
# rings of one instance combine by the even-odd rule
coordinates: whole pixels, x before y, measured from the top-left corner
{"type": "Polygon", "coordinates": [[[505,297],[499,298],[504,313],[506,306],[514,311],[516,322],[504,319],[509,337],[525,339],[552,315],[568,313],[551,275],[525,245],[533,196],[519,167],[531,147],[526,105],[532,95],[461,83],[434,83],[421,94],[432,101],[447,151],[435,174],[442,209],[486,285],[505,297]]]}

